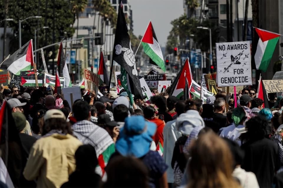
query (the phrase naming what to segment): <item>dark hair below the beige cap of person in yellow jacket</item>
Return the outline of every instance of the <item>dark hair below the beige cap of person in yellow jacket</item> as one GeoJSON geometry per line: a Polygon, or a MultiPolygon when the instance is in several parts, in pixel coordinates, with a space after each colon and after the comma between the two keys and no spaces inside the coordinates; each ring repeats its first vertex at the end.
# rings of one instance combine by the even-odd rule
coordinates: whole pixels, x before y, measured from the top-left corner
{"type": "Polygon", "coordinates": [[[43,122],[42,136],[46,135],[51,130],[61,130],[64,134],[73,135],[70,123],[62,118],[51,118],[43,122]]]}

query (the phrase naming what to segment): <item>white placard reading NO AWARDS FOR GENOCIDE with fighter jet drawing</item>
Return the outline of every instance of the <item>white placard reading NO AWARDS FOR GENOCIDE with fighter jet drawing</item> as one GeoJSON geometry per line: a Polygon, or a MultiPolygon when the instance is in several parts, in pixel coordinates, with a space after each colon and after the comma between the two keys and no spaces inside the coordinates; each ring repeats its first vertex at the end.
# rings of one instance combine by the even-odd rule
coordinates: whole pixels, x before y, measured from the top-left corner
{"type": "Polygon", "coordinates": [[[216,43],[218,86],[252,85],[249,41],[216,43]]]}

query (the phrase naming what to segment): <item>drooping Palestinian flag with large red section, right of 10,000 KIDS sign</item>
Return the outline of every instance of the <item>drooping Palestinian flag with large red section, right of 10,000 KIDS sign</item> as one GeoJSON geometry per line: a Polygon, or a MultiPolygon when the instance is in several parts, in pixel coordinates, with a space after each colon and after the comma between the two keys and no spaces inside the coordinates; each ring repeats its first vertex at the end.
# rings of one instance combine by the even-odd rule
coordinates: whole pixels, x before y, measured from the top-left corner
{"type": "Polygon", "coordinates": [[[182,69],[180,70],[174,82],[172,83],[169,95],[176,96],[178,99],[182,95],[184,95],[184,89],[186,84],[185,79],[187,79],[187,84],[189,87],[192,83],[192,71],[188,59],[186,59],[185,64],[183,65],[182,69]]]}

